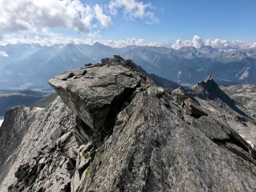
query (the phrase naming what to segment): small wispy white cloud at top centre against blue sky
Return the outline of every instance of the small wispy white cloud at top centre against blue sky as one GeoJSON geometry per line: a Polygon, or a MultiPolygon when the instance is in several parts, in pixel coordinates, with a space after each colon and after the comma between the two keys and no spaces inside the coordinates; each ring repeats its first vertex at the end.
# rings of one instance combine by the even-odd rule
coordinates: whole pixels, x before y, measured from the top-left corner
{"type": "Polygon", "coordinates": [[[156,18],[154,12],[148,11],[148,9],[154,9],[151,3],[143,3],[137,0],[111,0],[109,9],[114,15],[117,14],[118,9],[121,9],[123,14],[130,19],[146,19],[146,23],[148,24],[158,22],[158,18],[156,18]]]}

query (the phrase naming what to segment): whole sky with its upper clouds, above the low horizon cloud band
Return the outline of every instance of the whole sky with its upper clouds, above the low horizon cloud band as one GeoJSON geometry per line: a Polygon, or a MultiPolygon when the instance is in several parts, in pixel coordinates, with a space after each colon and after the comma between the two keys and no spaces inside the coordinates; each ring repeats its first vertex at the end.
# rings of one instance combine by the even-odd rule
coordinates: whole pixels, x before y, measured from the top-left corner
{"type": "Polygon", "coordinates": [[[189,40],[194,35],[203,40],[256,41],[255,0],[64,0],[69,5],[64,12],[59,0],[1,2],[0,34],[5,41],[21,35],[155,43],[189,40]],[[33,6],[26,8],[28,2],[33,6]]]}

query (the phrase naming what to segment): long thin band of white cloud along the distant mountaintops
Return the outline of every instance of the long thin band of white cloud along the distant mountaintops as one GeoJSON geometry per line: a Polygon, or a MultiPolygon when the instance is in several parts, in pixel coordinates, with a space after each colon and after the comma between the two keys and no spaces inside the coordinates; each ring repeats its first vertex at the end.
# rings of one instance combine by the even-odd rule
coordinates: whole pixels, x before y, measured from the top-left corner
{"type": "MultiPolygon", "coordinates": [[[[192,39],[189,40],[180,40],[177,39],[176,41],[165,41],[161,43],[156,42],[147,42],[144,39],[126,39],[126,40],[82,40],[82,39],[72,39],[72,38],[56,38],[56,39],[26,39],[26,40],[19,40],[19,39],[9,39],[3,40],[0,43],[0,46],[5,47],[8,44],[40,44],[42,46],[52,46],[52,45],[65,45],[65,44],[81,44],[81,45],[93,45],[95,43],[104,44],[109,47],[113,48],[123,48],[129,45],[137,45],[137,46],[153,46],[153,47],[167,47],[173,49],[179,49],[181,47],[195,47],[195,48],[202,48],[204,46],[210,46],[216,49],[230,49],[230,48],[237,48],[237,49],[255,49],[256,48],[256,41],[240,41],[240,40],[220,40],[220,39],[202,39],[200,36],[195,35],[192,39]],[[2,44],[1,44],[2,43],[2,44]]],[[[0,49],[0,56],[7,56],[4,52],[1,52],[0,49]]]]}

